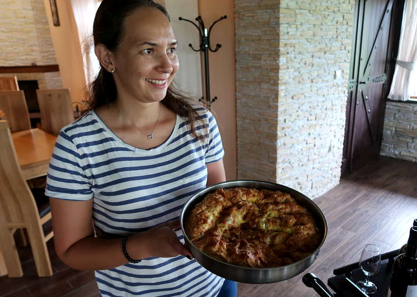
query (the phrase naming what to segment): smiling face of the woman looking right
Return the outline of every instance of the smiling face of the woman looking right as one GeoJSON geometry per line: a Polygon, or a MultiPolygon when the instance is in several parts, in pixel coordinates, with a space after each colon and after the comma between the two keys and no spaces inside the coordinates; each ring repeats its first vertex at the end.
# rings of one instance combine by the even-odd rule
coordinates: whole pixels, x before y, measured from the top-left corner
{"type": "Polygon", "coordinates": [[[157,9],[137,9],[125,19],[124,30],[114,52],[118,98],[162,100],[179,67],[170,22],[157,9]]]}

